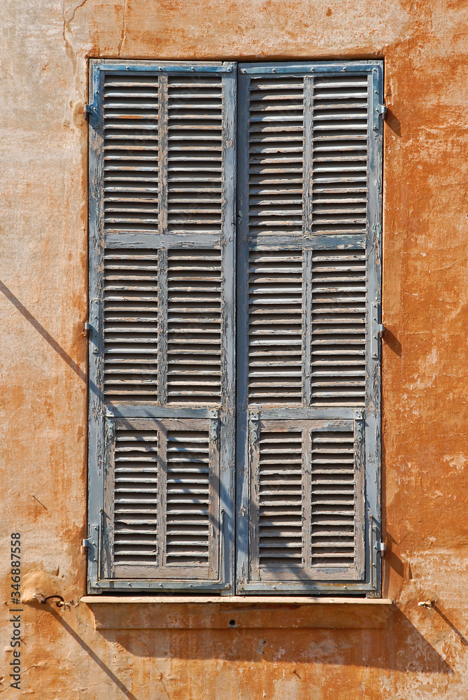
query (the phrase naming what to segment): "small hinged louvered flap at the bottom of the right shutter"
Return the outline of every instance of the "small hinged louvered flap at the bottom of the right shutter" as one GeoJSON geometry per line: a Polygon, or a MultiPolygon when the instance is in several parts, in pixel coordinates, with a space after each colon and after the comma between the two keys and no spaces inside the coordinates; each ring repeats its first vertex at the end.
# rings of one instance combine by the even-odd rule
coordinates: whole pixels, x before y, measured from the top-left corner
{"type": "Polygon", "coordinates": [[[266,420],[255,432],[250,426],[252,578],[362,577],[362,421],[266,420]]]}

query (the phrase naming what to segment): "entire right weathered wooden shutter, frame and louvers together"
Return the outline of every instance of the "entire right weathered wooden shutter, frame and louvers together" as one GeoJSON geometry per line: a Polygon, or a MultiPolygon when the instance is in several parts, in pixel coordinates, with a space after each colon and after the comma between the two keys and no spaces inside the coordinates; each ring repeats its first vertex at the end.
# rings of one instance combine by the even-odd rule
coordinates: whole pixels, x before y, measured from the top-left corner
{"type": "Polygon", "coordinates": [[[378,592],[381,69],[239,66],[239,592],[378,592]]]}

